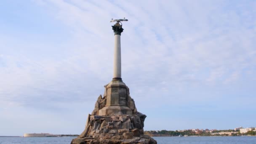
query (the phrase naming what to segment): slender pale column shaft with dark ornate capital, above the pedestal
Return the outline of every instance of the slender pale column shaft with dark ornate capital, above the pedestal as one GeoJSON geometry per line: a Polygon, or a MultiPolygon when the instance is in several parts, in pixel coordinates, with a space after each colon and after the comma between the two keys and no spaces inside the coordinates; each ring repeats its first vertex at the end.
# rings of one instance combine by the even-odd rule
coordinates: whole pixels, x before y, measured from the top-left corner
{"type": "Polygon", "coordinates": [[[121,78],[121,32],[123,32],[122,25],[118,22],[112,26],[115,32],[115,47],[114,47],[114,75],[113,80],[122,80],[121,78]]]}

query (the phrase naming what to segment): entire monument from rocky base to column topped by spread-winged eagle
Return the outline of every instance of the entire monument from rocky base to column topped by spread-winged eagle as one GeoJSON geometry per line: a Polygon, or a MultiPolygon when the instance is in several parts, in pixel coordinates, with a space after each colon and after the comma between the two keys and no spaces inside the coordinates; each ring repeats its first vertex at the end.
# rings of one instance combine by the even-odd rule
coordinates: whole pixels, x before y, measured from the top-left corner
{"type": "Polygon", "coordinates": [[[147,116],[137,111],[129,88],[121,78],[121,21],[128,20],[110,21],[116,22],[112,26],[115,32],[113,79],[104,85],[104,95],[98,97],[92,114],[88,115],[85,130],[71,144],[157,144],[144,135],[147,116]]]}

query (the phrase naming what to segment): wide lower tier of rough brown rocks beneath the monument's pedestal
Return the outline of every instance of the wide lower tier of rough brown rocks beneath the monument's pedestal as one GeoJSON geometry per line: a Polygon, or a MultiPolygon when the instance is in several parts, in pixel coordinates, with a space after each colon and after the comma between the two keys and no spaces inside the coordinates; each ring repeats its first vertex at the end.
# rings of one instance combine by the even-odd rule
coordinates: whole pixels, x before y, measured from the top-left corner
{"type": "Polygon", "coordinates": [[[88,115],[85,130],[71,144],[157,144],[144,135],[146,115],[88,115]]]}

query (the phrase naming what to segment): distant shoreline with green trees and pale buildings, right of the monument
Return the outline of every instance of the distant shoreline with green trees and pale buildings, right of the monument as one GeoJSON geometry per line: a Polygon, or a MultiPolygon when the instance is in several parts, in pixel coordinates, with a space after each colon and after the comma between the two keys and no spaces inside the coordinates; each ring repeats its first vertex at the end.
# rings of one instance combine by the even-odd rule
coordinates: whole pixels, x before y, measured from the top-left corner
{"type": "Polygon", "coordinates": [[[256,136],[256,128],[235,128],[229,130],[188,129],[177,131],[144,131],[149,136],[256,136]]]}

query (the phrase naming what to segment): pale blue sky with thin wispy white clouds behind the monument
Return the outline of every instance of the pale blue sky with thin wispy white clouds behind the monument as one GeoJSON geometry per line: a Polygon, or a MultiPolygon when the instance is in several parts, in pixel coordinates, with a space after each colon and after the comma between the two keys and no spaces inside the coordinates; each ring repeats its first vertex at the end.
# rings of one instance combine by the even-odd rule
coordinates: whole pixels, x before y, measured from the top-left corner
{"type": "Polygon", "coordinates": [[[127,18],[122,78],[144,130],[256,127],[255,0],[5,0],[0,136],[80,134],[112,80],[111,18],[127,18]]]}

